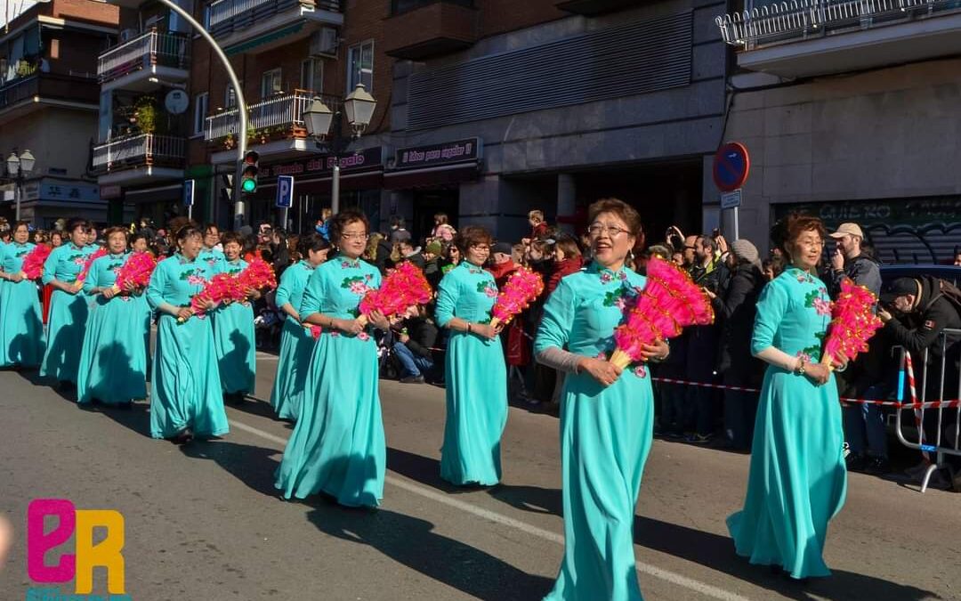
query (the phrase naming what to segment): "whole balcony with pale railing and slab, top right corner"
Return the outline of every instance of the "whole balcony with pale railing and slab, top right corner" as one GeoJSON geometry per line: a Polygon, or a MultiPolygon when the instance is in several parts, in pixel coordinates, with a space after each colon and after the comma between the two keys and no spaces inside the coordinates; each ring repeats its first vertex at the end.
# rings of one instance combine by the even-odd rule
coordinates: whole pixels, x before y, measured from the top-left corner
{"type": "Polygon", "coordinates": [[[789,78],[961,53],[958,0],[792,0],[717,24],[739,66],[789,78]]]}

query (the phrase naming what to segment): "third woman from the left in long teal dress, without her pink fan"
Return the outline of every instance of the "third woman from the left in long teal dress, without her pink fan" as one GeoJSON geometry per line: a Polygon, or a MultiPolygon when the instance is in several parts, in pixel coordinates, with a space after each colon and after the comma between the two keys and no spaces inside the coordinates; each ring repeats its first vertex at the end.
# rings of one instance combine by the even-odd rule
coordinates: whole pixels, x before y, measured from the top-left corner
{"type": "Polygon", "coordinates": [[[92,298],[80,353],[77,402],[130,407],[147,397],[147,349],[143,344],[150,313],[142,289],[113,288],[130,253],[127,232],[112,227],[104,233],[107,255],[90,263],[84,291],[92,298]]]}

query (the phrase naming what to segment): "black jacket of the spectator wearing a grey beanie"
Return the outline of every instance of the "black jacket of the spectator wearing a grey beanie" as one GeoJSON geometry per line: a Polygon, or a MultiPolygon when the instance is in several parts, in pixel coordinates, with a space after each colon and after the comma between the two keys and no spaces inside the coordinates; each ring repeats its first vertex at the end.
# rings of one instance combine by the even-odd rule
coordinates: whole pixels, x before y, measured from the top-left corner
{"type": "Polygon", "coordinates": [[[731,271],[727,287],[711,300],[721,327],[718,373],[761,373],[760,363],[751,355],[751,337],[757,298],[764,284],[764,276],[756,265],[739,264],[731,271]]]}

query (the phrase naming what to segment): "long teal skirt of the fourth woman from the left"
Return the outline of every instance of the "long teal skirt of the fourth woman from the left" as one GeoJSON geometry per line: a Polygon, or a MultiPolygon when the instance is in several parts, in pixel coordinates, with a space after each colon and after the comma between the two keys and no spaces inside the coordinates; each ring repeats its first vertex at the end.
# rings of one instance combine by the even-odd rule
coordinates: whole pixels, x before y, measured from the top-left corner
{"type": "Polygon", "coordinates": [[[197,437],[230,431],[208,318],[178,323],[173,315],[160,315],[150,381],[152,437],[170,438],[185,428],[197,437]]]}

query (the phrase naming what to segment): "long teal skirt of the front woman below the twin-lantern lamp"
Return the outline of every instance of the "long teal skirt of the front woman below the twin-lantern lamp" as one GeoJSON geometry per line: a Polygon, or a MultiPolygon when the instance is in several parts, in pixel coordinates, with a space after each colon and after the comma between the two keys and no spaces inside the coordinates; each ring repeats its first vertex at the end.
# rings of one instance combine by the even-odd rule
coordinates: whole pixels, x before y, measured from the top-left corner
{"type": "Polygon", "coordinates": [[[275,486],[287,499],[325,492],[341,505],[376,507],[385,466],[374,339],[325,332],[313,349],[275,486]]]}

